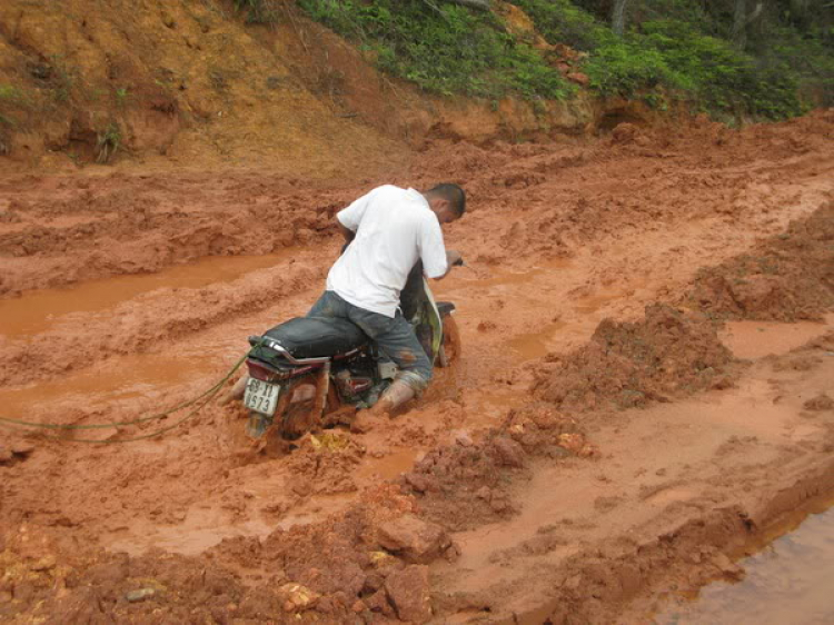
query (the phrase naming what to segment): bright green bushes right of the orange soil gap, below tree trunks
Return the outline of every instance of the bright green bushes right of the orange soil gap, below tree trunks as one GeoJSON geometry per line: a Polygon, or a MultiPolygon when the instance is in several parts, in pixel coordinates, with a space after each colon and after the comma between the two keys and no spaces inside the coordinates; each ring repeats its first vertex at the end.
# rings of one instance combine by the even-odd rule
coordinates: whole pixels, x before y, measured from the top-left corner
{"type": "Polygon", "coordinates": [[[584,70],[604,96],[642,95],[656,101],[663,92],[707,111],[772,119],[803,111],[801,76],[781,54],[763,62],[709,34],[714,24],[697,2],[646,0],[645,16],[652,19],[634,24],[623,38],[568,0],[517,0],[516,4],[549,42],[566,42],[589,53],[584,70]]]}

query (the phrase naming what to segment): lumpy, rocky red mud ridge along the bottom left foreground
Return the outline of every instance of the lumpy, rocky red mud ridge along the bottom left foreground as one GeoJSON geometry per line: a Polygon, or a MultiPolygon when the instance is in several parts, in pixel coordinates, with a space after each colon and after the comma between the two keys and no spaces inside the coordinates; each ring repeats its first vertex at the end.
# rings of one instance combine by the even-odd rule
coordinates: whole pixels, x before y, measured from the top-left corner
{"type": "Polygon", "coordinates": [[[410,514],[410,498],[396,490],[383,486],[321,523],[277,529],[262,540],[225,539],[199,556],[91,550],[72,559],[51,555],[43,565],[44,558],[21,555],[22,543],[8,545],[0,592],[14,601],[0,615],[181,623],[399,616],[423,623],[431,616],[426,565],[454,546],[443,528],[410,514]],[[261,573],[240,573],[252,569],[261,573]]]}

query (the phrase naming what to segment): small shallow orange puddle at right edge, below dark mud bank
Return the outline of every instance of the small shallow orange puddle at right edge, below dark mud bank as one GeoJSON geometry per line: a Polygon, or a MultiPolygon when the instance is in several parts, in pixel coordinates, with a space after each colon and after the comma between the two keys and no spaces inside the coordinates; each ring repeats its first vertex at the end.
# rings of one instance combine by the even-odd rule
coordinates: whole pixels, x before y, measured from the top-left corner
{"type": "Polygon", "coordinates": [[[825,323],[801,321],[731,321],[721,333],[721,339],[738,358],[762,358],[772,354],[785,354],[825,334],[834,327],[834,315],[825,323]]]}

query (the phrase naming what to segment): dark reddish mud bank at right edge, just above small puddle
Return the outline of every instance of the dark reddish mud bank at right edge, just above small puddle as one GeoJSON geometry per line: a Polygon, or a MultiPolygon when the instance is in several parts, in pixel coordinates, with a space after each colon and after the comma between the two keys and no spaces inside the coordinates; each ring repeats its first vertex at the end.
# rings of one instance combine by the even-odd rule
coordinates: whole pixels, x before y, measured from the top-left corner
{"type": "Polygon", "coordinates": [[[821,320],[834,307],[832,241],[834,202],[749,254],[703,269],[688,300],[724,319],[821,320]]]}

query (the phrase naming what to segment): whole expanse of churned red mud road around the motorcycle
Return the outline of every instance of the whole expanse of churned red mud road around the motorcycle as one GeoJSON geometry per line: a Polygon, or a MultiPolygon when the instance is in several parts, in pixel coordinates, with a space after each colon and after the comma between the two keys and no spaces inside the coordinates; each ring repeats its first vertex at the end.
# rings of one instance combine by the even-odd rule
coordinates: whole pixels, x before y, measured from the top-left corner
{"type": "Polygon", "coordinates": [[[438,140],[394,176],[331,187],[239,170],[0,180],[0,288],[21,302],[206,255],[288,255],[66,306],[31,334],[0,319],[0,401],[29,420],[128,420],[210,386],[249,334],[317,297],[334,211],[375,183],[465,183],[471,210],[447,238],[473,267],[437,284],[461,359],[367,434],[241,463],[235,406],[125,445],[3,429],[0,618],[639,622],[658,588],[737,575],[725,550],[834,486],[834,335],[820,323],[742,366],[709,317],[831,310],[833,137],[818,112],[438,140]],[[748,275],[788,295],[736,310],[704,281],[748,275]]]}

